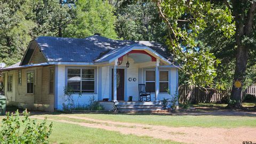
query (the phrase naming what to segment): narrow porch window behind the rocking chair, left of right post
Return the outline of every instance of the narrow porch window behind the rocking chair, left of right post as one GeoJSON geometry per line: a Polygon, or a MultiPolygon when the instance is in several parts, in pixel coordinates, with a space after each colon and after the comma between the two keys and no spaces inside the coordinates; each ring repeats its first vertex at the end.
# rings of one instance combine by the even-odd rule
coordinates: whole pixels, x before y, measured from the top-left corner
{"type": "Polygon", "coordinates": [[[155,71],[146,71],[147,92],[155,92],[155,71]]]}

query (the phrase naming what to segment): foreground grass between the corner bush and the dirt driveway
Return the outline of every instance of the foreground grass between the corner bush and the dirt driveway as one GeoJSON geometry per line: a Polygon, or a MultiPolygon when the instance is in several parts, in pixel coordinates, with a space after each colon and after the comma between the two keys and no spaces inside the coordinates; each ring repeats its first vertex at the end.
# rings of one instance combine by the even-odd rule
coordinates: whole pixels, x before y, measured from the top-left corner
{"type": "Polygon", "coordinates": [[[125,135],[119,132],[53,122],[51,143],[178,143],[169,140],[125,135]]]}

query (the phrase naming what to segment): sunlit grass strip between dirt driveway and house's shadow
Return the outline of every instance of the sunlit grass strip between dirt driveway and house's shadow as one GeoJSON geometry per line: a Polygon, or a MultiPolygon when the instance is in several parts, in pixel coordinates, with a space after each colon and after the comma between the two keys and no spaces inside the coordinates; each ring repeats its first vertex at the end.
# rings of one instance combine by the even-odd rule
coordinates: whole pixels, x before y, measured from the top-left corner
{"type": "Polygon", "coordinates": [[[256,127],[256,117],[248,116],[171,116],[171,115],[125,115],[125,114],[69,114],[79,117],[117,122],[141,123],[165,126],[199,127],[256,127]]]}

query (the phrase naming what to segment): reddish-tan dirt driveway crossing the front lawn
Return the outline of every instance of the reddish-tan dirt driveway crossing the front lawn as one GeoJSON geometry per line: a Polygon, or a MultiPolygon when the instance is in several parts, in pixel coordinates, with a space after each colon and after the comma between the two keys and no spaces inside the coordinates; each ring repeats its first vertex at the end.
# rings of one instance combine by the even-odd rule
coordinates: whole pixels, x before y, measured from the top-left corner
{"type": "MultiPolygon", "coordinates": [[[[134,124],[114,121],[104,121],[88,117],[70,115],[54,115],[58,119],[49,120],[77,124],[86,127],[117,131],[122,134],[134,134],[153,138],[172,140],[184,143],[243,143],[243,141],[256,142],[256,128],[238,127],[231,129],[217,127],[167,127],[147,124],[134,124]],[[63,118],[63,119],[61,119],[63,118]],[[71,121],[79,119],[84,121],[71,121]]],[[[31,116],[43,119],[40,115],[31,116]]]]}

